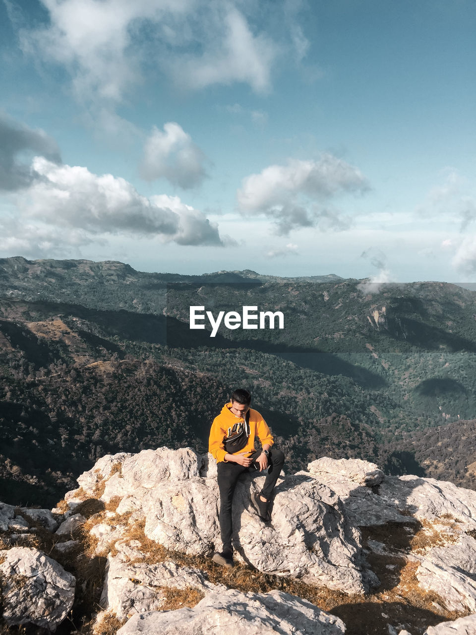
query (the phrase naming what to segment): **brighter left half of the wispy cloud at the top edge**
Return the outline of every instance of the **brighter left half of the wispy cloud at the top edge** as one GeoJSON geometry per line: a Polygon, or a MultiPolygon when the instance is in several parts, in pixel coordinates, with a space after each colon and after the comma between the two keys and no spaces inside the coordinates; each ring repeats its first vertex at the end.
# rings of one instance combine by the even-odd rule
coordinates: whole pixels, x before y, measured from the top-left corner
{"type": "Polygon", "coordinates": [[[138,22],[158,22],[180,13],[187,0],[42,0],[50,26],[22,30],[32,53],[65,65],[79,100],[92,96],[117,102],[141,79],[140,58],[131,46],[138,22]]]}

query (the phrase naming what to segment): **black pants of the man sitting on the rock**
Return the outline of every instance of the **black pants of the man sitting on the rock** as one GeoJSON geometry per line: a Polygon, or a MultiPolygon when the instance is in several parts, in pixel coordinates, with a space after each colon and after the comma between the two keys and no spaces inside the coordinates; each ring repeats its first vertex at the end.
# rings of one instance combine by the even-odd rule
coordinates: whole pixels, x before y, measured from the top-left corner
{"type": "MultiPolygon", "coordinates": [[[[281,474],[284,454],[277,448],[271,448],[268,452],[268,474],[265,485],[261,490],[261,496],[270,500],[278,476],[281,474]]],[[[243,472],[251,472],[251,474],[255,475],[260,474],[260,465],[256,462],[256,458],[260,454],[261,450],[251,455],[250,458],[253,458],[253,463],[249,467],[243,467],[243,465],[230,461],[220,461],[218,463],[218,490],[220,490],[220,514],[218,515],[218,520],[220,521],[220,534],[224,554],[231,554],[233,551],[232,500],[238,477],[243,472]]]]}

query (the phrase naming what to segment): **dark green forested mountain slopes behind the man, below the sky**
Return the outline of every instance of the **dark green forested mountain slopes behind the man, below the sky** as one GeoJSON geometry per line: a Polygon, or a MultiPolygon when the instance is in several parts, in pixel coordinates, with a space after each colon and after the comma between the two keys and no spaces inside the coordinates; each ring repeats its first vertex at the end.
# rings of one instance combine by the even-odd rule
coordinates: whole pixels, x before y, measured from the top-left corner
{"type": "MultiPolygon", "coordinates": [[[[378,290],[337,276],[6,258],[0,293],[2,469],[23,502],[30,487],[53,495],[107,452],[202,451],[237,385],[253,392],[293,469],[329,455],[423,473],[418,434],[429,447],[430,429],[476,413],[476,294],[453,284],[378,290]],[[282,311],[285,328],[220,327],[211,338],[209,326],[190,330],[190,305],[282,311]]],[[[439,478],[472,483],[461,465],[439,478]]]]}

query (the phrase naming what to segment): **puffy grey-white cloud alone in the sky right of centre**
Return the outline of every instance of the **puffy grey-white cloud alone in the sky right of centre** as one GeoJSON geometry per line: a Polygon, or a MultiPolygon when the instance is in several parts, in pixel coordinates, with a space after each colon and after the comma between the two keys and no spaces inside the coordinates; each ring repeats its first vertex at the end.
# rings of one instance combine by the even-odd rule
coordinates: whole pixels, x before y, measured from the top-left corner
{"type": "Polygon", "coordinates": [[[237,192],[242,213],[272,218],[280,233],[294,227],[347,229],[348,219],[331,208],[339,194],[369,189],[360,170],[331,154],[319,161],[289,159],[286,166],[271,165],[244,178],[237,192]]]}

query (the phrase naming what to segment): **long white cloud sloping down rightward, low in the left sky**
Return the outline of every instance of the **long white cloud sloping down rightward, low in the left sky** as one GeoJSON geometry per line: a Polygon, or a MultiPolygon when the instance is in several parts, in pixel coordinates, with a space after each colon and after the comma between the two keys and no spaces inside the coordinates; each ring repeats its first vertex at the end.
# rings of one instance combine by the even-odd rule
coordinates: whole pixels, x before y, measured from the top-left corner
{"type": "Polygon", "coordinates": [[[179,244],[222,244],[216,225],[180,199],[148,199],[123,178],[98,176],[44,157],[35,157],[32,168],[37,179],[18,196],[20,213],[29,222],[81,231],[84,240],[125,234],[179,244]]]}

